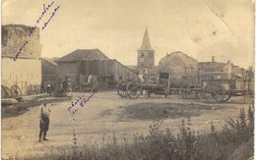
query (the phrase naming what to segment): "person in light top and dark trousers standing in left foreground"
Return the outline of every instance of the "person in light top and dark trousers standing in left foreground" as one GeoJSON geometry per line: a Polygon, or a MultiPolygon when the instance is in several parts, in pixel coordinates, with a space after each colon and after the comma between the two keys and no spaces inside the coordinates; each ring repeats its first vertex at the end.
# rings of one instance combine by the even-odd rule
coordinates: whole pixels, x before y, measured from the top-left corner
{"type": "Polygon", "coordinates": [[[42,106],[40,106],[40,111],[39,111],[39,119],[40,119],[40,133],[39,133],[39,140],[38,142],[41,142],[41,140],[48,140],[46,138],[46,133],[49,128],[49,115],[50,115],[50,109],[47,106],[47,103],[44,102],[42,106]],[[42,136],[42,139],[41,139],[42,136]]]}

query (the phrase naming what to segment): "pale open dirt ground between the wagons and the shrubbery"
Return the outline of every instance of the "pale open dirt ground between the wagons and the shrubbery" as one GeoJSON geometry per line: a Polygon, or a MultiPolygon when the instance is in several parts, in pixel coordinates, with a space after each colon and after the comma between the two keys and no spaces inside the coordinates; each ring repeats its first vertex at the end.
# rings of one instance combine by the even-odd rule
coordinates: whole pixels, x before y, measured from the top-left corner
{"type": "MultiPolygon", "coordinates": [[[[73,100],[77,100],[82,95],[88,97],[90,93],[73,93],[73,100]]],[[[169,127],[173,132],[177,132],[181,120],[186,119],[184,114],[180,114],[184,111],[194,113],[191,114],[193,130],[208,133],[211,121],[217,130],[221,130],[224,120],[236,118],[239,108],[247,109],[252,98],[246,98],[245,104],[243,102],[243,97],[234,97],[224,104],[206,104],[196,99],[183,100],[177,95],[167,98],[161,95],[152,95],[148,98],[143,95],[134,100],[121,98],[115,91],[97,92],[74,116],[71,116],[67,109],[71,105],[70,101],[50,103],[50,127],[47,134],[50,140],[40,143],[38,142],[39,106],[33,106],[22,115],[2,119],[2,158],[41,154],[52,151],[58,146],[72,145],[74,130],[78,137],[78,145],[95,142],[100,144],[103,134],[111,136],[115,133],[119,137],[125,136],[129,139],[133,133],[148,133],[149,126],[156,120],[156,114],[151,119],[147,111],[149,110],[149,114],[154,114],[152,112],[155,111],[159,113],[161,107],[172,107],[162,111],[164,114],[162,118],[163,127],[169,127]],[[140,104],[155,104],[155,108],[145,110],[140,104]],[[140,109],[137,110],[134,106],[140,106],[140,109]],[[189,106],[192,106],[191,109],[189,106]],[[135,110],[127,107],[133,107],[135,110]],[[166,116],[172,113],[173,108],[175,114],[166,116]],[[146,116],[147,119],[138,118],[137,112],[142,112],[141,116],[146,116]],[[129,116],[130,113],[132,116],[129,116]],[[176,114],[181,116],[175,116],[176,114]]]]}

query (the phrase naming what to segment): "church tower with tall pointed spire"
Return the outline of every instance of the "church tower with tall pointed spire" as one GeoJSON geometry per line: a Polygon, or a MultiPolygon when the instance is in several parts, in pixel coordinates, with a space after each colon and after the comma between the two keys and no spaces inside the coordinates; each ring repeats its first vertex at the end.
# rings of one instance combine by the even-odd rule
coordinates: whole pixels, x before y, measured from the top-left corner
{"type": "Polygon", "coordinates": [[[142,46],[138,49],[138,70],[145,71],[155,67],[155,50],[151,46],[148,28],[146,27],[142,46]]]}

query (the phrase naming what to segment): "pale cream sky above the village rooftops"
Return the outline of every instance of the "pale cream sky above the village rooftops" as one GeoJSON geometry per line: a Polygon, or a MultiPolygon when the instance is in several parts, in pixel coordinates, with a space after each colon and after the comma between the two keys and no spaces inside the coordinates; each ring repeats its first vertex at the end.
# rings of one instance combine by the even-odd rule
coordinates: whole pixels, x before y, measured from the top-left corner
{"type": "MultiPolygon", "coordinates": [[[[52,0],[2,1],[2,25],[33,26],[52,0]]],[[[60,6],[40,31],[42,57],[98,48],[125,65],[137,64],[148,27],[156,63],[173,51],[200,61],[254,64],[252,0],[55,0],[60,6]]],[[[47,21],[45,15],[39,27],[47,21]]]]}

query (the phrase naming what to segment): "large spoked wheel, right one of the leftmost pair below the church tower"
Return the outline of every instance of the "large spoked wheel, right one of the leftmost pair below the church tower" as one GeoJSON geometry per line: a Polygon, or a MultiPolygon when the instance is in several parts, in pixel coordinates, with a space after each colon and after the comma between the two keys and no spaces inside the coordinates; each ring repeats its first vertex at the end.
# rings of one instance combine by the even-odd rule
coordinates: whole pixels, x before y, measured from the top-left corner
{"type": "Polygon", "coordinates": [[[132,80],[128,82],[127,87],[126,87],[128,96],[132,99],[139,98],[142,90],[142,85],[139,81],[137,80],[132,80]]]}

